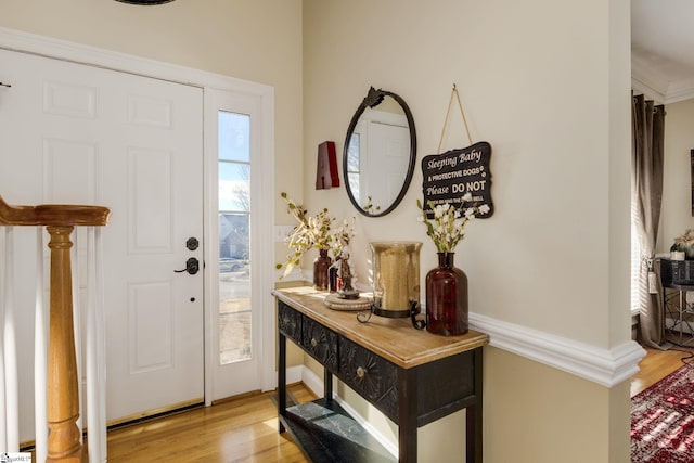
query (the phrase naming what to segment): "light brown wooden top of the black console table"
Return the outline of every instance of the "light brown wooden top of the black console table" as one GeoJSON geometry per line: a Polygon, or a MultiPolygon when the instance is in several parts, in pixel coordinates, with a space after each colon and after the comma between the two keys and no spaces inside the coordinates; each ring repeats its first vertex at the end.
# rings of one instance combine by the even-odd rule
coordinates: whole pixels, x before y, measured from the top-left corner
{"type": "MultiPolygon", "coordinates": [[[[272,294],[310,319],[404,369],[489,343],[488,335],[472,330],[460,336],[440,336],[426,330],[415,330],[410,318],[390,319],[374,314],[369,322],[361,323],[357,320],[358,311],[329,308],[323,303],[329,293],[312,287],[275,290],[272,294]]],[[[422,317],[423,313],[419,316],[422,317]]]]}

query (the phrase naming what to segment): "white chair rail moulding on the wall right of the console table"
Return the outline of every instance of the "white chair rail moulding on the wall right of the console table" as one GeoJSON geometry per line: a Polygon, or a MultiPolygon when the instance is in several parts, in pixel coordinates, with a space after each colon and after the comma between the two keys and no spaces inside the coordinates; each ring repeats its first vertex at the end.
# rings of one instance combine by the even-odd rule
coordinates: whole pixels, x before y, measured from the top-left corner
{"type": "Polygon", "coordinates": [[[489,345],[575,374],[605,387],[613,387],[639,371],[645,350],[629,340],[603,349],[478,313],[470,314],[470,327],[487,333],[489,345]]]}

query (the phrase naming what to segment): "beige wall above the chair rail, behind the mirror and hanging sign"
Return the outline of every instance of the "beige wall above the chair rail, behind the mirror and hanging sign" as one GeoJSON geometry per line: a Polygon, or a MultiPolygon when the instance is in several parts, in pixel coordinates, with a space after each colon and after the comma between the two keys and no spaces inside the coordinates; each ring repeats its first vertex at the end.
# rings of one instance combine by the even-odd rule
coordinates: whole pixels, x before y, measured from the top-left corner
{"type": "MultiPolygon", "coordinates": [[[[344,188],[313,190],[317,145],[334,140],[342,151],[369,87],[394,91],[414,115],[417,166],[401,207],[382,219],[357,217],[355,253],[367,256],[369,241],[421,240],[423,267],[433,267],[434,246],[415,220],[419,160],[437,149],[457,82],[474,141],[492,145],[497,211],[472,223],[457,249],[473,310],[607,347],[613,334],[595,324],[609,325],[608,179],[622,177],[617,180],[626,192],[614,201],[628,208],[629,171],[613,172],[609,164],[604,2],[476,3],[437,0],[402,9],[380,1],[362,10],[361,2],[305,2],[307,206],[355,215],[344,188]],[[581,287],[590,291],[577,291],[581,287]],[[568,313],[580,313],[582,322],[566,323],[568,313]]],[[[628,105],[627,92],[621,102],[628,105]]],[[[445,150],[467,144],[460,116],[452,115],[445,150]]],[[[619,162],[628,167],[629,139],[624,143],[619,162]]],[[[628,221],[619,227],[628,237],[628,221]]],[[[621,250],[628,258],[628,243],[621,250]]],[[[365,259],[361,262],[365,274],[365,259]]],[[[621,292],[626,299],[628,287],[621,292]]],[[[615,336],[624,338],[627,331],[615,336]]]]}

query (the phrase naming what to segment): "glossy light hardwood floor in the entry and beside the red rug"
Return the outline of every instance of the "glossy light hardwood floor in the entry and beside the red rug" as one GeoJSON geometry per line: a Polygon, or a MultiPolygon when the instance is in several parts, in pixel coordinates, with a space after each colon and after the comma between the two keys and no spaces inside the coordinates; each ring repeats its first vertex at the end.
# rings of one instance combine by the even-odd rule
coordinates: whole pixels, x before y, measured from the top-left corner
{"type": "MultiPolygon", "coordinates": [[[[683,363],[687,352],[646,349],[631,380],[635,395],[683,363]]],[[[292,385],[297,402],[316,397],[292,385]]],[[[287,434],[278,433],[272,394],[257,394],[108,432],[108,462],[296,462],[307,460],[287,434]]]]}

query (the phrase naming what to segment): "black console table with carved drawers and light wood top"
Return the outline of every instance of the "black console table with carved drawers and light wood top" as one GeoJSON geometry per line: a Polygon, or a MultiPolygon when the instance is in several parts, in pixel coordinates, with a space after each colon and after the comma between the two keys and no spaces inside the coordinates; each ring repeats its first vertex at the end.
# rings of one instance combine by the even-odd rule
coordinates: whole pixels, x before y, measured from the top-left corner
{"type": "Polygon", "coordinates": [[[288,429],[311,461],[394,461],[333,400],[335,375],[398,425],[400,462],[416,462],[419,427],[467,409],[466,461],[481,463],[486,334],[437,336],[414,330],[409,319],[376,316],[359,323],[354,311],[327,308],[326,293],[301,287],[273,294],[278,299],[280,433],[288,429]],[[323,398],[288,408],[287,337],[323,365],[325,387],[323,398]]]}

